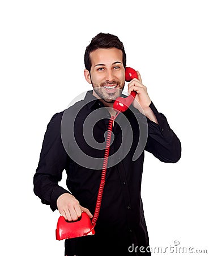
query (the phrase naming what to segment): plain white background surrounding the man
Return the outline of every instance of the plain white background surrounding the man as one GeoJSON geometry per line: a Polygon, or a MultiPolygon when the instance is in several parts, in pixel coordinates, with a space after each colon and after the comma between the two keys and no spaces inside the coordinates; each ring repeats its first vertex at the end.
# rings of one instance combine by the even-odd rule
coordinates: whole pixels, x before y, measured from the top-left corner
{"type": "Polygon", "coordinates": [[[63,256],[59,213],[34,195],[33,175],[52,115],[91,89],[83,56],[99,32],[121,39],[127,65],[182,143],[176,164],[146,153],[151,246],[209,252],[208,24],[202,0],[1,1],[1,255],[63,256]]]}

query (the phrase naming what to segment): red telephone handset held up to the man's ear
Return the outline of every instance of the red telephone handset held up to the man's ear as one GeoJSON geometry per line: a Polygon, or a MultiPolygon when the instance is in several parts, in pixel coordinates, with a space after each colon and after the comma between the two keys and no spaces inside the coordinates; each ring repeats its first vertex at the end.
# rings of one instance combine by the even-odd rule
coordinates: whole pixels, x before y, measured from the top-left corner
{"type": "MultiPolygon", "coordinates": [[[[126,82],[130,82],[132,79],[138,79],[138,75],[137,75],[137,71],[135,71],[135,69],[127,67],[126,71],[125,71],[125,80],[126,82]]],[[[131,94],[126,97],[118,97],[113,104],[113,109],[116,110],[117,112],[124,112],[126,111],[129,106],[131,105],[131,103],[133,102],[135,96],[136,96],[137,92],[135,92],[134,90],[131,92],[131,94]]]]}

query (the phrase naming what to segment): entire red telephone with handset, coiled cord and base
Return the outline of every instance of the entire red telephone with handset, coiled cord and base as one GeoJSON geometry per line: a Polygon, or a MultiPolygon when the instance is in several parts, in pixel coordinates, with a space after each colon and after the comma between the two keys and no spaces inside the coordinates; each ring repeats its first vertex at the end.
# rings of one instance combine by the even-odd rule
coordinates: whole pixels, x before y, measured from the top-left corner
{"type": "MultiPolygon", "coordinates": [[[[132,79],[138,79],[137,72],[133,68],[126,68],[125,72],[125,80],[130,82],[132,79]]],[[[136,92],[132,91],[130,96],[123,98],[118,97],[113,104],[113,108],[117,112],[124,112],[127,108],[129,108],[131,102],[133,102],[134,97],[136,96],[136,92]]],[[[95,234],[94,227],[96,225],[97,218],[99,216],[99,210],[101,205],[101,197],[103,195],[103,188],[105,184],[105,175],[106,175],[106,165],[108,163],[108,156],[109,156],[109,147],[110,147],[110,139],[112,134],[112,125],[113,119],[110,118],[109,127],[108,127],[108,136],[107,136],[107,143],[105,149],[105,156],[104,156],[104,163],[103,163],[103,170],[101,176],[101,183],[99,188],[99,193],[97,197],[97,204],[95,209],[95,214],[93,219],[90,220],[86,212],[82,212],[82,216],[77,221],[68,222],[65,220],[63,216],[59,216],[57,222],[57,229],[56,229],[56,239],[63,240],[69,239],[74,237],[82,237],[87,235],[95,234]]]]}

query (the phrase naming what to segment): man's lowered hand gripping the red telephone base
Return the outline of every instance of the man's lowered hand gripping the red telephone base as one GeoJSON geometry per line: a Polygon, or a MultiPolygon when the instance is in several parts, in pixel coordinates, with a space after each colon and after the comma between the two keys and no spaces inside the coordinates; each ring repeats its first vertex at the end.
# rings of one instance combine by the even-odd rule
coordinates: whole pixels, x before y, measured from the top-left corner
{"type": "Polygon", "coordinates": [[[81,216],[82,212],[86,212],[89,218],[92,218],[91,212],[87,208],[80,206],[79,201],[69,193],[63,193],[57,199],[57,208],[59,213],[67,221],[75,221],[81,216]]]}

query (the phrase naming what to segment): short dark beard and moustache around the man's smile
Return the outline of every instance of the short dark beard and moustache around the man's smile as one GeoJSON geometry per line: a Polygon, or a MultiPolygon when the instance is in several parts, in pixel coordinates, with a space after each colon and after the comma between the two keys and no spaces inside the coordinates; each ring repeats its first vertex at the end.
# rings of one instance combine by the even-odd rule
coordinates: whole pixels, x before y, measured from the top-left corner
{"type": "MultiPolygon", "coordinates": [[[[96,94],[101,99],[103,99],[106,103],[114,103],[116,98],[121,96],[124,85],[125,85],[125,82],[123,83],[123,85],[121,85],[121,82],[119,82],[119,81],[103,82],[103,83],[99,84],[99,86],[96,86],[95,84],[92,83],[93,90],[95,90],[96,94]],[[113,84],[117,84],[116,91],[114,91],[113,93],[107,92],[106,89],[103,87],[105,85],[113,85],[113,84]]],[[[115,89],[113,89],[113,90],[115,90],[115,89]]]]}

